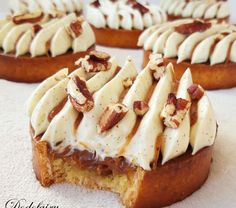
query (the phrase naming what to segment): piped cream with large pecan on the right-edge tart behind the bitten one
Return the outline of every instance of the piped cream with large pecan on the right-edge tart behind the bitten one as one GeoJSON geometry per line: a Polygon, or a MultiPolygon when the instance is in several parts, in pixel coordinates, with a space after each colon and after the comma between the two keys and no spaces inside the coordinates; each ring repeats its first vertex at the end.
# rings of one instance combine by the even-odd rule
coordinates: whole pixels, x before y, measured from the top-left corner
{"type": "Polygon", "coordinates": [[[193,19],[176,20],[145,30],[138,45],[177,62],[211,65],[236,62],[236,27],[193,19]]]}

